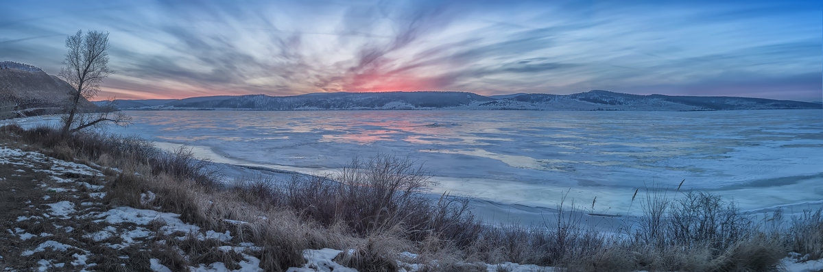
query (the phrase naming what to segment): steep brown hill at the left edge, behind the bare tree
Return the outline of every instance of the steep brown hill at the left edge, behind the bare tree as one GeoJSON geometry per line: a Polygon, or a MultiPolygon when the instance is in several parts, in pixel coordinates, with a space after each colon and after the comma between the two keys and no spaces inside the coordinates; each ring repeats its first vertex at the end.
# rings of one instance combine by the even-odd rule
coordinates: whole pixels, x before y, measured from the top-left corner
{"type": "MultiPolygon", "coordinates": [[[[0,101],[16,104],[17,110],[38,109],[56,112],[68,101],[72,86],[40,68],[18,63],[0,62],[0,101]]],[[[95,104],[83,99],[81,108],[94,110],[95,104]]]]}

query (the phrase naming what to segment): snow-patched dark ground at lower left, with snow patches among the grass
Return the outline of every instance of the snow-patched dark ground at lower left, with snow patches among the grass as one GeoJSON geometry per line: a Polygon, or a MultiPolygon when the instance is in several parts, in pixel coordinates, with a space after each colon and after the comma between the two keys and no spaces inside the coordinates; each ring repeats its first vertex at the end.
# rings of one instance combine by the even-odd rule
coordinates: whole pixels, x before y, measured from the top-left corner
{"type": "MultiPolygon", "coordinates": [[[[232,264],[215,261],[189,266],[190,271],[263,271],[260,260],[253,256],[261,248],[237,241],[230,231],[199,228],[183,222],[180,214],[106,205],[105,185],[111,174],[118,172],[0,145],[0,195],[4,201],[0,218],[5,221],[5,231],[0,234],[0,269],[92,271],[119,266],[125,270],[172,271],[155,257],[164,254],[157,252],[156,245],[168,244],[167,239],[197,239],[213,240],[222,245],[216,250],[233,251],[239,258],[232,264]]],[[[140,197],[149,203],[156,196],[146,191],[140,197]]],[[[349,251],[306,250],[306,264],[289,271],[357,271],[334,262],[341,252],[349,251]]],[[[421,265],[413,264],[414,254],[402,256],[409,260],[398,263],[402,271],[421,269],[421,265]]],[[[485,266],[489,271],[497,271],[498,267],[552,271],[511,263],[485,266]]]]}

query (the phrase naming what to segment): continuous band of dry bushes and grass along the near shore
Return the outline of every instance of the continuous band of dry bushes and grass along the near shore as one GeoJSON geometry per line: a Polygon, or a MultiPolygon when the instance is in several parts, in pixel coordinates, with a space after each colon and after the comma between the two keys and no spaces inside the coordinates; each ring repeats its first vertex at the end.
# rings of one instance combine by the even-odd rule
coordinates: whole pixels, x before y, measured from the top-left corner
{"type": "Polygon", "coordinates": [[[588,228],[562,205],[557,224],[490,226],[472,215],[464,199],[422,194],[430,186],[423,169],[391,155],[353,159],[330,177],[247,177],[226,187],[219,173],[188,150],[162,151],[139,138],[89,132],[64,138],[53,128],[16,126],[0,127],[0,134],[58,159],[119,168],[107,186],[107,201],[160,207],[205,228],[239,233],[263,247],[258,258],[265,270],[300,266],[303,250],[322,247],[351,248],[339,261],[374,271],[397,270],[397,260],[454,271],[472,270],[477,261],[570,271],[765,271],[778,270],[789,251],[807,260],[823,258],[821,210],[774,227],[707,192],[674,198],[650,190],[641,197],[638,223],[616,235],[588,228]],[[147,191],[157,196],[150,203],[139,197],[147,191]],[[418,256],[409,260],[403,251],[418,256]]]}

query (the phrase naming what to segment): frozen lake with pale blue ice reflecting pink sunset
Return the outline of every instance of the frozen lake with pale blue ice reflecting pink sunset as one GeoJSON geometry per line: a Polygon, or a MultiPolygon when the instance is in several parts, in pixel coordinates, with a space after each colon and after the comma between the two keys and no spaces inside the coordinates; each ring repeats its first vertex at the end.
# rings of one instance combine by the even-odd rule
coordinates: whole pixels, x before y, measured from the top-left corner
{"type": "Polygon", "coordinates": [[[823,110],[128,114],[133,125],[113,131],[219,163],[322,174],[353,156],[408,156],[435,176],[433,193],[493,201],[504,211],[491,216],[554,208],[565,191],[589,212],[637,213],[635,189],[677,196],[684,179],[681,191],[714,191],[745,210],[823,200],[823,110]]]}

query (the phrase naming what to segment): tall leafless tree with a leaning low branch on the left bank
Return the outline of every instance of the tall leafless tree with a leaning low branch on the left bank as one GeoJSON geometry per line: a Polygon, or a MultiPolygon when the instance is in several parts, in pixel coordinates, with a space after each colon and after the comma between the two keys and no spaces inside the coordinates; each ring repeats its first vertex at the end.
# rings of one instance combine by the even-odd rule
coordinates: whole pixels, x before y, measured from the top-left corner
{"type": "Polygon", "coordinates": [[[66,38],[66,59],[58,76],[72,85],[66,104],[67,115],[63,116],[63,135],[95,127],[102,122],[128,124],[130,118],[123,113],[114,113],[112,108],[101,108],[100,113],[81,113],[79,108],[84,99],[92,99],[100,92],[100,83],[114,73],[109,70],[109,33],[90,30],[83,35],[82,30],[66,38]],[[83,98],[83,99],[81,99],[83,98]]]}

